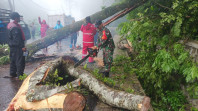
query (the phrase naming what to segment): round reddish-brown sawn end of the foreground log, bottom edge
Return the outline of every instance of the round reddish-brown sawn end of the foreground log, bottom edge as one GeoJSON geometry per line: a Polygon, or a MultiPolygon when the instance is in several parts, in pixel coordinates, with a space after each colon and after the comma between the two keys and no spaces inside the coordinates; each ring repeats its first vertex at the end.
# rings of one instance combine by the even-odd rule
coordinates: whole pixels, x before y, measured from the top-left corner
{"type": "Polygon", "coordinates": [[[63,111],[83,111],[86,105],[85,97],[78,92],[70,92],[64,100],[63,111]]]}

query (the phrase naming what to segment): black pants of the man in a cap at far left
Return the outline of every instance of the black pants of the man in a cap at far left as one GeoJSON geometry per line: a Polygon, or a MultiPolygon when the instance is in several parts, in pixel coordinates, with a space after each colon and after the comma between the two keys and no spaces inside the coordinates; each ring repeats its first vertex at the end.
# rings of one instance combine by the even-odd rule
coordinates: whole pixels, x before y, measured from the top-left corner
{"type": "Polygon", "coordinates": [[[25,69],[25,56],[22,48],[10,48],[10,75],[19,77],[25,69]]]}

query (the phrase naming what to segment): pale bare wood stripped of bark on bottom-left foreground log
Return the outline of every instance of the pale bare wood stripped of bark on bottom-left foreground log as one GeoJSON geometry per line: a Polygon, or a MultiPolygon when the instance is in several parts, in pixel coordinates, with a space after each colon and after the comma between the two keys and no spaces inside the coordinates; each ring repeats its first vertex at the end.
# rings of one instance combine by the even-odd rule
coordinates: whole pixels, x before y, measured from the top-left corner
{"type": "MultiPolygon", "coordinates": [[[[34,71],[35,72],[35,71],[34,71]]],[[[18,110],[20,108],[24,110],[38,110],[38,109],[49,109],[49,108],[63,108],[63,102],[67,94],[55,94],[45,100],[35,101],[35,102],[27,102],[26,100],[26,92],[29,86],[29,80],[34,74],[30,74],[21,85],[19,91],[15,95],[15,97],[10,102],[7,111],[18,110]]]]}

